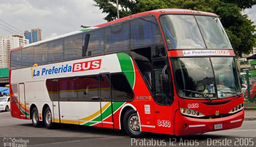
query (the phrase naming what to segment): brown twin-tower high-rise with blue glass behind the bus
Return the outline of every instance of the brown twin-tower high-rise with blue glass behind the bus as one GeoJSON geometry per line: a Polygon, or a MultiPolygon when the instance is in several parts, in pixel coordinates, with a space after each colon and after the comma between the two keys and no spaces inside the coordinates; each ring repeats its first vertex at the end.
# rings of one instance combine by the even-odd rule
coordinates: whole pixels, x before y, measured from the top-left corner
{"type": "Polygon", "coordinates": [[[29,40],[29,43],[34,43],[37,41],[42,40],[42,30],[37,28],[37,29],[31,29],[29,32],[28,30],[24,31],[24,36],[26,39],[29,40]]]}

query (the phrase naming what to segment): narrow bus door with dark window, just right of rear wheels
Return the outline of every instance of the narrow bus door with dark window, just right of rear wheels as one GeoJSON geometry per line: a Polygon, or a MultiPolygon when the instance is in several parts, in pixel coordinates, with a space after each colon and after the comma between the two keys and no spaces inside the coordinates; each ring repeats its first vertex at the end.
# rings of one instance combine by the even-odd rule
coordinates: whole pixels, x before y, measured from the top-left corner
{"type": "Polygon", "coordinates": [[[60,102],[58,92],[58,80],[52,80],[52,106],[53,122],[60,123],[60,102]]]}

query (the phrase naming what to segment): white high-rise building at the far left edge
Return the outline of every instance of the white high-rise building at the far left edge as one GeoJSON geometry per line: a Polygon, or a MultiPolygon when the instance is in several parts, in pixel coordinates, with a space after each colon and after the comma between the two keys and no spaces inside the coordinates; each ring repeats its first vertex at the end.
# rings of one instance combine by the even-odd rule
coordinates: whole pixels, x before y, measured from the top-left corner
{"type": "Polygon", "coordinates": [[[0,35],[0,68],[9,68],[10,49],[27,44],[23,35],[0,35]]]}

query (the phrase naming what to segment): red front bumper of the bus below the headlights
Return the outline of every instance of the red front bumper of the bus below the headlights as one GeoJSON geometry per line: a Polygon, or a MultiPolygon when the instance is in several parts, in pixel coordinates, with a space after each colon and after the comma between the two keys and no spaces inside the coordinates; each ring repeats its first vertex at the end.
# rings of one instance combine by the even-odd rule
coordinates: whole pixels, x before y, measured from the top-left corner
{"type": "Polygon", "coordinates": [[[214,119],[189,118],[178,110],[175,118],[175,135],[191,135],[240,127],[244,121],[244,110],[232,116],[214,119]],[[218,123],[222,123],[222,129],[214,129],[214,124],[218,123]]]}

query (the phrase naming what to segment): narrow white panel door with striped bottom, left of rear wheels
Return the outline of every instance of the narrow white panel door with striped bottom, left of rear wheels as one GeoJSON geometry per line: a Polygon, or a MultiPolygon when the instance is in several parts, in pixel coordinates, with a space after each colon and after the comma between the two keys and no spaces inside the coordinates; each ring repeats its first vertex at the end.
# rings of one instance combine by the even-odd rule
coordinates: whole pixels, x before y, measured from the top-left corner
{"type": "Polygon", "coordinates": [[[26,119],[26,103],[25,103],[24,83],[19,84],[19,107],[20,107],[20,118],[26,119]]]}

